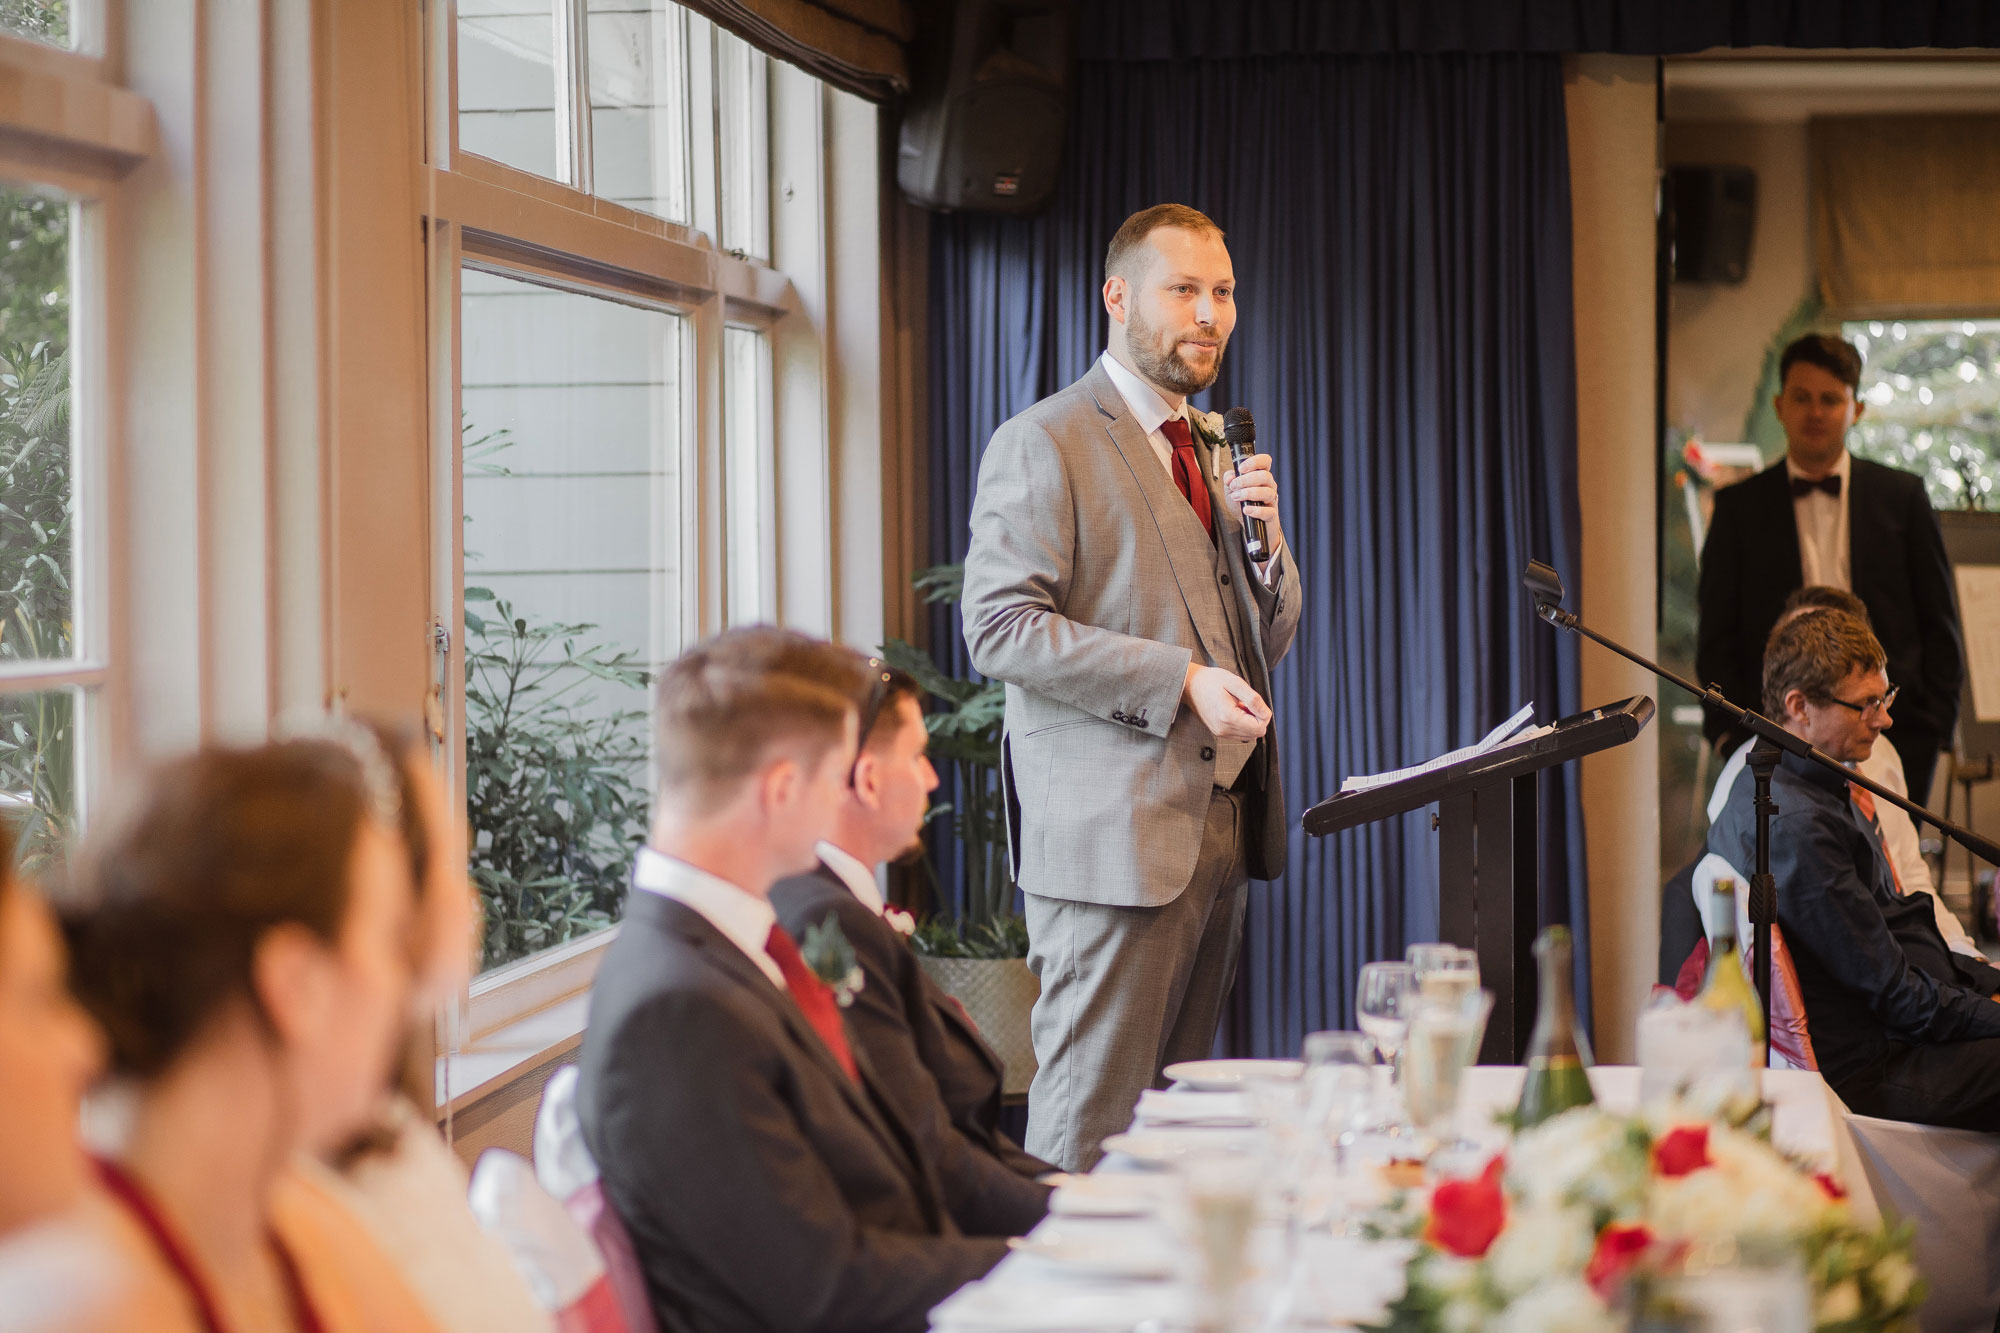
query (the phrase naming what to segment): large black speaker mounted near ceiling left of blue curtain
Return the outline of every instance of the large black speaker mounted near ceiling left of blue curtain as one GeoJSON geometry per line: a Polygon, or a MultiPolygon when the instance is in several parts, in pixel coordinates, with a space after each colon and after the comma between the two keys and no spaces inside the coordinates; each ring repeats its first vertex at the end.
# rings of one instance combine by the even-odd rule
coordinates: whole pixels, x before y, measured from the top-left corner
{"type": "Polygon", "coordinates": [[[912,50],[896,184],[924,208],[1034,212],[1070,110],[1070,0],[938,4],[912,50]]]}

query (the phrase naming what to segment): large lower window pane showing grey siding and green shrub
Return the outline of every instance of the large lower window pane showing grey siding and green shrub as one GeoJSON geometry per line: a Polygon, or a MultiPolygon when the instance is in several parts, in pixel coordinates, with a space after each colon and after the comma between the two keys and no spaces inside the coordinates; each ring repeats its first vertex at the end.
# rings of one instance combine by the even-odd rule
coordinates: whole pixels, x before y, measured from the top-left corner
{"type": "Polygon", "coordinates": [[[486,967],[616,919],[680,652],[686,322],[464,272],[466,803],[486,967]]]}

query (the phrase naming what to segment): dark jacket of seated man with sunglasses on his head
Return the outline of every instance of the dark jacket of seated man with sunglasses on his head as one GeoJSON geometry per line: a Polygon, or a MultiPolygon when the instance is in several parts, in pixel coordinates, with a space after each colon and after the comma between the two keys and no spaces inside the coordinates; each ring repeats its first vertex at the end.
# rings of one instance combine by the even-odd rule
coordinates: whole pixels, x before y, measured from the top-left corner
{"type": "Polygon", "coordinates": [[[868,979],[848,1009],[848,1029],[926,1141],[958,1225],[976,1235],[1028,1231],[1050,1193],[1030,1177],[1054,1167],[1000,1133],[1004,1069],[958,1003],[832,869],[782,881],[770,903],[794,939],[828,915],[840,921],[868,979]]]}

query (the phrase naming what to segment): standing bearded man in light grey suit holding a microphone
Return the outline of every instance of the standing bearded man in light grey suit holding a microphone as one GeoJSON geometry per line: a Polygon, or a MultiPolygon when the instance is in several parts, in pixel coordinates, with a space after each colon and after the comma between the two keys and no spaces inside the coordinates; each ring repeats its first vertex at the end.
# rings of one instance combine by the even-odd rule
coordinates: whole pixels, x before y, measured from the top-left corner
{"type": "Polygon", "coordinates": [[[1266,701],[1300,608],[1270,458],[1232,468],[1188,406],[1236,326],[1220,228],[1180,204],[1128,218],[1104,310],[1104,356],[986,446],[964,588],[972,664],[1006,683],[1042,981],[1028,1151],[1068,1169],[1164,1065],[1214,1045],[1248,879],[1284,871],[1266,701]],[[1244,554],[1244,516],[1268,560],[1244,554]]]}

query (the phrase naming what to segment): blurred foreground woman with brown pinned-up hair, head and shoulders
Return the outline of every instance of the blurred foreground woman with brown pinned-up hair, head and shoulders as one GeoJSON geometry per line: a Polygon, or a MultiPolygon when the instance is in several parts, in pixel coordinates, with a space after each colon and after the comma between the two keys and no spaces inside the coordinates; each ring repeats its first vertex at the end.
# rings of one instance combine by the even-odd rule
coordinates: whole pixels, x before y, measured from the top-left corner
{"type": "Polygon", "coordinates": [[[170,1333],[430,1333],[306,1163],[376,1111],[412,989],[408,781],[372,735],[160,769],[78,863],[72,987],[130,1095],[92,1221],[170,1333]]]}

